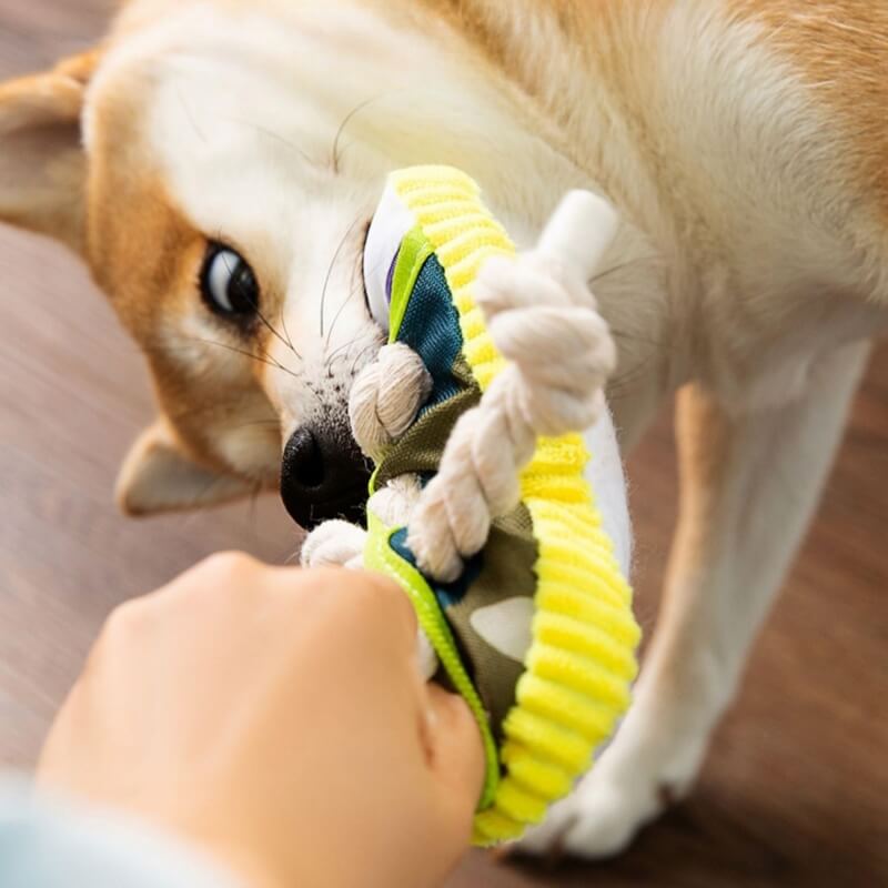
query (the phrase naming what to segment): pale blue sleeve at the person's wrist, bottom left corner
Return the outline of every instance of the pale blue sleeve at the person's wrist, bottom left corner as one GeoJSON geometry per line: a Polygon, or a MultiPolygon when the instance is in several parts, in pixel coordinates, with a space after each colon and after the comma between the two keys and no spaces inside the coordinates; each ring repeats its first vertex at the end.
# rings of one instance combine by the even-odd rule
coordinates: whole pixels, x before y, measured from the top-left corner
{"type": "Polygon", "coordinates": [[[239,888],[193,850],[127,815],[32,796],[23,780],[2,779],[0,886],[239,888]]]}

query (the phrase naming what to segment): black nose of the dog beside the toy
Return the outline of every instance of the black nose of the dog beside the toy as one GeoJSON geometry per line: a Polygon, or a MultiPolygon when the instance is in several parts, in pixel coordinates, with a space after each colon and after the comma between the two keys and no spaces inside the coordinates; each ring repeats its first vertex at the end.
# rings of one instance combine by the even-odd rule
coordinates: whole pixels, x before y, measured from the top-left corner
{"type": "Polygon", "coordinates": [[[370,465],[351,435],[303,425],[284,447],[281,498],[293,519],[312,529],[329,518],[364,518],[370,465]]]}

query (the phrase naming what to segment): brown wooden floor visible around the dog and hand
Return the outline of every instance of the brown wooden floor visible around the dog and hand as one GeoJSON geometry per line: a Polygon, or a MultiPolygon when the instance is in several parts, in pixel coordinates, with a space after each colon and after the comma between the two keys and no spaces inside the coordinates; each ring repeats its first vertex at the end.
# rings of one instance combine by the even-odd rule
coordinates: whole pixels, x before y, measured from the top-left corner
{"type": "MultiPolygon", "coordinates": [[[[0,75],[84,46],[108,6],[0,0],[0,75]]],[[[114,474],[151,416],[137,351],[85,273],[52,245],[0,231],[0,765],[27,767],[115,604],[213,549],[285,561],[295,533],[272,498],[144,523],[120,517],[114,474]]],[[[649,629],[674,521],[668,416],[630,473],[638,609],[649,629]]],[[[882,347],[693,798],[614,862],[548,871],[475,854],[451,888],[888,886],[887,480],[882,347]]]]}

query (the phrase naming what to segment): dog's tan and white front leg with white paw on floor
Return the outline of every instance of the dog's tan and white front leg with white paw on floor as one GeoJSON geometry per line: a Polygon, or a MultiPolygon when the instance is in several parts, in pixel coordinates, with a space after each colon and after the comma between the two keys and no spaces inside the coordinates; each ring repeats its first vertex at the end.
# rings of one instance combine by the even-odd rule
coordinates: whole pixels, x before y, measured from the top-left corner
{"type": "Polygon", "coordinates": [[[780,410],[738,415],[700,387],[679,394],[679,525],[635,704],[525,850],[613,855],[690,789],[817,504],[867,353],[855,344],[821,360],[780,410]]]}

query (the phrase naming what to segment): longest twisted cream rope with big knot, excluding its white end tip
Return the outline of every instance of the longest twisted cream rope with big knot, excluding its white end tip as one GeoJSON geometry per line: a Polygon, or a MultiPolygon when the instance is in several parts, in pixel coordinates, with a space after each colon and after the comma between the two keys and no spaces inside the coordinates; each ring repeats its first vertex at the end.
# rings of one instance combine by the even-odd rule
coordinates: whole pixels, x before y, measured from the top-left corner
{"type": "Polygon", "coordinates": [[[541,251],[494,258],[475,301],[509,361],[478,406],[460,417],[435,477],[410,518],[420,567],[442,582],[487,542],[494,518],[519,502],[519,475],[539,435],[581,432],[604,410],[616,349],[579,275],[541,251]]]}

